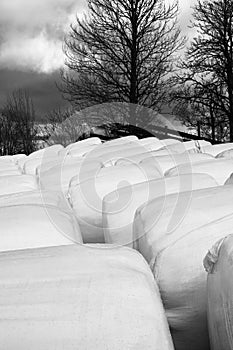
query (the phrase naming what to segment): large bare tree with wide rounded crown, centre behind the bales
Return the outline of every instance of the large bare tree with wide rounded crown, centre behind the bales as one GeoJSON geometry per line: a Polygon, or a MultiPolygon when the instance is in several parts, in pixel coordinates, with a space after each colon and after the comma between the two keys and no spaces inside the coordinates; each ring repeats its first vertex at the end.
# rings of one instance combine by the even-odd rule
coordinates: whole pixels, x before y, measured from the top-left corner
{"type": "MultiPolygon", "coordinates": [[[[62,91],[78,109],[109,102],[160,109],[168,97],[174,57],[183,45],[177,4],[164,0],[89,0],[66,38],[62,91]]],[[[145,120],[142,122],[145,123],[145,120]]]]}

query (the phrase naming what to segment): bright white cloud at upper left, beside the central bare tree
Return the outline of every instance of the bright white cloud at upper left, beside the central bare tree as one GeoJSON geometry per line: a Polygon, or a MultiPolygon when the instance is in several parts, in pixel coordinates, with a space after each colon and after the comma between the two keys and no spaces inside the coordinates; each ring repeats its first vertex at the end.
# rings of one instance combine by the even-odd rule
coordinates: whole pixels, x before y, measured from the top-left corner
{"type": "Polygon", "coordinates": [[[85,0],[1,0],[0,68],[38,73],[59,69],[64,34],[84,8],[85,0]]]}

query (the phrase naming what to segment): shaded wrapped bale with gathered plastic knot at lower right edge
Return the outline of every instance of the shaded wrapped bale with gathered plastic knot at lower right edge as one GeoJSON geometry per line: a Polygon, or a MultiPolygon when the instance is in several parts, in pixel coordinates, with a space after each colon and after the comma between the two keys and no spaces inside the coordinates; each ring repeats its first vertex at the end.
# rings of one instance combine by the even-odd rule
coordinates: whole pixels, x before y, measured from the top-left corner
{"type": "Polygon", "coordinates": [[[208,271],[207,315],[211,350],[233,349],[232,261],[233,235],[217,241],[204,259],[208,271]]]}

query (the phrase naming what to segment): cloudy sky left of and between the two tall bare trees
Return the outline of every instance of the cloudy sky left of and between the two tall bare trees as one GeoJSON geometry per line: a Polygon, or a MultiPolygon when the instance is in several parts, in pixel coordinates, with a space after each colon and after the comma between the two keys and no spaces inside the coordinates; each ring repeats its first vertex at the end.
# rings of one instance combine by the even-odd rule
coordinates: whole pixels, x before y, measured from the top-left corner
{"type": "MultiPolygon", "coordinates": [[[[185,34],[195,1],[180,0],[185,34]]],[[[55,85],[64,62],[62,42],[85,9],[86,0],[0,0],[0,105],[18,88],[30,91],[37,114],[66,104],[55,85]]]]}

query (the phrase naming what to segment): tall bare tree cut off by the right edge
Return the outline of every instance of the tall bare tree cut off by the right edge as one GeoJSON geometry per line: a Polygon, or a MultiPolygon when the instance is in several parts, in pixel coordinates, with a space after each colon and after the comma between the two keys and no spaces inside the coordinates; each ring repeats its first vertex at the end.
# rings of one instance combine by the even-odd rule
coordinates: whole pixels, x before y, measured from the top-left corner
{"type": "Polygon", "coordinates": [[[233,1],[198,0],[192,26],[197,36],[181,64],[182,88],[174,96],[205,111],[212,137],[216,126],[227,123],[233,141],[233,1]]]}

